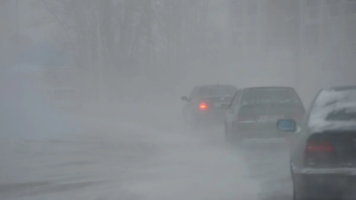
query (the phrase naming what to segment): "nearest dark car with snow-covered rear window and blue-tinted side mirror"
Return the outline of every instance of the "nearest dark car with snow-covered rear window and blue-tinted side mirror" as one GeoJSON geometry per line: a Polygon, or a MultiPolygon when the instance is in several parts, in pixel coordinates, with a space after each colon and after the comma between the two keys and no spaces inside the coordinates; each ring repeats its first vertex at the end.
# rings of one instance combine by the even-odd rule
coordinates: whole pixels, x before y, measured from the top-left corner
{"type": "Polygon", "coordinates": [[[356,86],[315,95],[299,132],[293,119],[277,122],[295,135],[290,147],[293,198],[356,199],[356,86]]]}

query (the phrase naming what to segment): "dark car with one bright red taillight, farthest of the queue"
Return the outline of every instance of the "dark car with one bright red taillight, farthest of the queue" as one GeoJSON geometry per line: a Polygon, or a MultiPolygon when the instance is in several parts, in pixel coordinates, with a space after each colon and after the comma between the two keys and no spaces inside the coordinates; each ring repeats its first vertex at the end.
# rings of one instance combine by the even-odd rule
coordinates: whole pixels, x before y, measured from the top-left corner
{"type": "Polygon", "coordinates": [[[222,124],[225,110],[221,104],[230,102],[237,91],[235,85],[216,84],[195,86],[189,96],[180,99],[186,101],[183,117],[189,126],[222,124]]]}

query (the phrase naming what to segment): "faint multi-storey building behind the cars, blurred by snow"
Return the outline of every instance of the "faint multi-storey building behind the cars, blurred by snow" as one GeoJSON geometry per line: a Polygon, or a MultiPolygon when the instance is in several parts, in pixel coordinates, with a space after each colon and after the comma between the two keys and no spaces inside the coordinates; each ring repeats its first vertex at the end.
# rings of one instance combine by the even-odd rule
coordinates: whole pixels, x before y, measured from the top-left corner
{"type": "Polygon", "coordinates": [[[356,84],[356,0],[230,0],[229,9],[236,49],[289,51],[304,99],[356,84]]]}

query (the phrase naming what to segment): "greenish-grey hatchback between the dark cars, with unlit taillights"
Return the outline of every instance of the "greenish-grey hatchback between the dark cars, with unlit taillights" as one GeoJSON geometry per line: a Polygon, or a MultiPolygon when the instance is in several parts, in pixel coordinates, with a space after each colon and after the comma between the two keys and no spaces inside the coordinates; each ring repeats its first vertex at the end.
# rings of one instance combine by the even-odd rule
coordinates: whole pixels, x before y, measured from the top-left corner
{"type": "Polygon", "coordinates": [[[305,108],[292,87],[264,86],[238,90],[229,104],[224,119],[225,141],[240,143],[248,138],[284,138],[289,135],[276,128],[278,119],[300,122],[305,108]]]}

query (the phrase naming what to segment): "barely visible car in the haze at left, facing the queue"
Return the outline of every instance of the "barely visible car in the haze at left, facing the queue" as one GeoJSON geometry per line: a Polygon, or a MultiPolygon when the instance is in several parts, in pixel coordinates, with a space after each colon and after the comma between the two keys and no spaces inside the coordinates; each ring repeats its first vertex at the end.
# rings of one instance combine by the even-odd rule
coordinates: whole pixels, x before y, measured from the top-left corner
{"type": "Polygon", "coordinates": [[[54,88],[47,91],[53,107],[61,109],[82,109],[83,96],[73,88],[54,88]]]}

